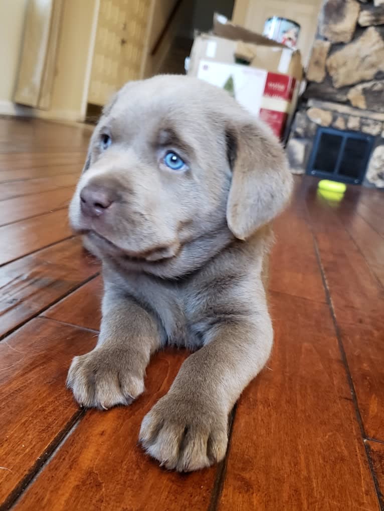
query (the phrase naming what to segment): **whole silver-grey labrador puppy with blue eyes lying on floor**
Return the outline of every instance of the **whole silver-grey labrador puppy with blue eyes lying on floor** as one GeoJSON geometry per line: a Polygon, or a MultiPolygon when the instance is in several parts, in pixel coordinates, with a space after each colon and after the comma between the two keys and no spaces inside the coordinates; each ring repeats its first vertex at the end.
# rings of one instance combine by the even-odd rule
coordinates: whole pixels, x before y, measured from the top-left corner
{"type": "Polygon", "coordinates": [[[70,220],[102,261],[102,322],[68,387],[82,406],[127,405],[156,350],[199,348],[142,422],[168,469],[224,457],[228,414],[270,355],[269,223],[291,184],[269,130],[194,78],[126,84],[93,133],[70,220]]]}

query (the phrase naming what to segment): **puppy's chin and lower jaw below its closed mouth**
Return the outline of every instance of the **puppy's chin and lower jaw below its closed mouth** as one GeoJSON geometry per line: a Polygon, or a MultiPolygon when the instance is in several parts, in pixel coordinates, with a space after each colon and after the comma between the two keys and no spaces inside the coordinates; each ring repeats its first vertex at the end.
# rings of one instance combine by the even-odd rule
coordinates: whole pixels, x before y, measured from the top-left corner
{"type": "Polygon", "coordinates": [[[142,252],[128,251],[101,236],[93,230],[82,232],[84,246],[98,257],[107,257],[133,264],[161,263],[174,258],[179,250],[178,244],[164,247],[155,247],[142,252]]]}

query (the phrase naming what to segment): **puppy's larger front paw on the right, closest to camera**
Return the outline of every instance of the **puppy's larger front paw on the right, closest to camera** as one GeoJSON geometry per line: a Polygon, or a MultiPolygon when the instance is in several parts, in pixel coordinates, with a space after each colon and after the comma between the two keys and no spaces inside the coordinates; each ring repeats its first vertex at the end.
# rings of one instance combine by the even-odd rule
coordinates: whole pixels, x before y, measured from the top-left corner
{"type": "Polygon", "coordinates": [[[191,472],[224,458],[227,429],[228,417],[220,409],[167,394],[145,415],[140,442],[167,469],[191,472]]]}

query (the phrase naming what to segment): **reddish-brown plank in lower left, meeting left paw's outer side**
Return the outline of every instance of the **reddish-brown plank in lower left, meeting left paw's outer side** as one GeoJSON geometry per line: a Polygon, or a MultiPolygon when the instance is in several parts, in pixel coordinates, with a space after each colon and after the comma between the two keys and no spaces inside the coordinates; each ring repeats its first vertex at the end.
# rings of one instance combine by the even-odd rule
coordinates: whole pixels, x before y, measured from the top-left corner
{"type": "MultiPolygon", "coordinates": [[[[18,493],[79,414],[65,388],[74,355],[92,332],[33,319],[0,343],[0,506],[18,493]]],[[[37,506],[41,508],[40,506],[37,506]]]]}

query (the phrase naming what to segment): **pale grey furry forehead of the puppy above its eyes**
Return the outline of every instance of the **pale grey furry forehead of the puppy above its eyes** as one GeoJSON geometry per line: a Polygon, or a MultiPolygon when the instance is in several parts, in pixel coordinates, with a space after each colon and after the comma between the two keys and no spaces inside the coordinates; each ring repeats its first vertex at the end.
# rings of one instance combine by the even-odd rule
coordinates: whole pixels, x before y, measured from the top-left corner
{"type": "Polygon", "coordinates": [[[200,80],[159,76],[126,84],[106,112],[106,124],[127,139],[140,136],[160,145],[177,139],[179,147],[214,144],[228,99],[227,92],[200,80]]]}

